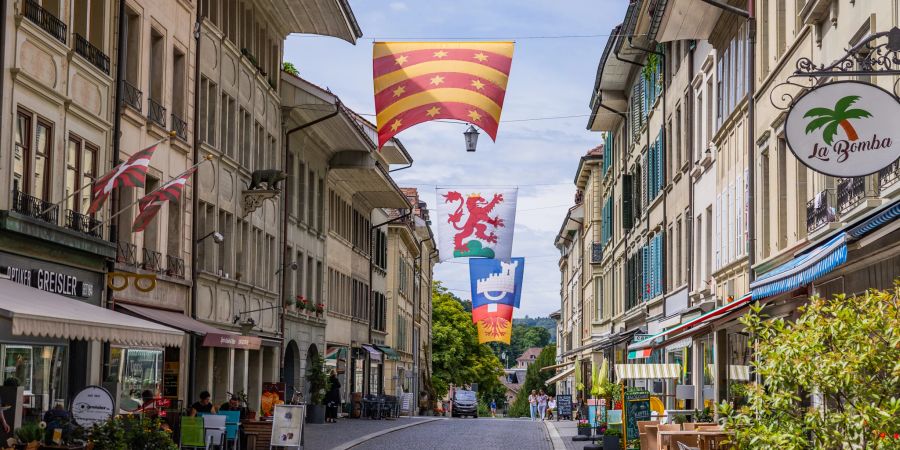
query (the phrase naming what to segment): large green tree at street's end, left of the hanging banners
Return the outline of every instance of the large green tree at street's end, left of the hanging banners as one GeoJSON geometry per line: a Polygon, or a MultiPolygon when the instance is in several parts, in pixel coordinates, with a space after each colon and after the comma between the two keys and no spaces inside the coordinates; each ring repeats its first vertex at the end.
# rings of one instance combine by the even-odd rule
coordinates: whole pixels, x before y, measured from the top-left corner
{"type": "Polygon", "coordinates": [[[447,395],[450,384],[478,383],[482,401],[501,399],[503,368],[487,345],[478,343],[478,330],[463,302],[435,281],[432,292],[432,383],[438,398],[447,395]]]}

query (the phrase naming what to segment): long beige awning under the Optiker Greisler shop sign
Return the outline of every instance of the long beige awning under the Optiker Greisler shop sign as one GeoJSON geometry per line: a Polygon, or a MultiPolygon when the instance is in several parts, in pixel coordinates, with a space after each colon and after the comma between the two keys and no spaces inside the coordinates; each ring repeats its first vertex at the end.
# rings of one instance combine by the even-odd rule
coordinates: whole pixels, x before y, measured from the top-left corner
{"type": "Polygon", "coordinates": [[[180,347],[184,333],[138,317],[0,279],[0,317],[12,334],[180,347]]]}

